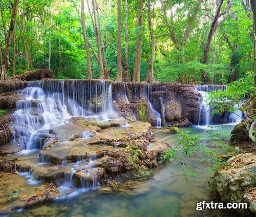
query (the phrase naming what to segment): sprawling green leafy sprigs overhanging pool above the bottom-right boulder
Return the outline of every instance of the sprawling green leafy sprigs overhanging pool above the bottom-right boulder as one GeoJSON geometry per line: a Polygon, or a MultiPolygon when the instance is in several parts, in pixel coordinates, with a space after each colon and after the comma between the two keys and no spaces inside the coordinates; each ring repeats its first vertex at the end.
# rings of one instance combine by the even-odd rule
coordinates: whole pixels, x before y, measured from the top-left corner
{"type": "MultiPolygon", "coordinates": [[[[221,158],[225,153],[236,153],[236,149],[227,145],[224,140],[229,138],[229,134],[221,133],[216,129],[208,138],[202,138],[198,135],[191,135],[191,130],[180,131],[180,140],[175,148],[169,148],[163,152],[162,162],[178,160],[183,166],[184,175],[195,177],[195,169],[198,168],[214,172],[216,169],[224,166],[226,160],[221,158]],[[186,159],[195,158],[202,167],[198,167],[186,159]]],[[[192,161],[193,162],[193,161],[192,161]]]]}

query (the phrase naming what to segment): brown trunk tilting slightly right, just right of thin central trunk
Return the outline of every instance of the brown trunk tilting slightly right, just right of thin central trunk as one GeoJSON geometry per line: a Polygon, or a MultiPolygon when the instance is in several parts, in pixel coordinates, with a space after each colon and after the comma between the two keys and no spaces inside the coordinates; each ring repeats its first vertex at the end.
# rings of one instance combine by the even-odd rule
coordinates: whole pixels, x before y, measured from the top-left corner
{"type": "Polygon", "coordinates": [[[138,16],[137,16],[137,28],[138,36],[136,41],[136,50],[135,50],[135,58],[134,58],[134,70],[133,70],[133,82],[140,82],[140,64],[141,64],[141,26],[142,26],[142,18],[143,18],[143,3],[144,0],[138,0],[138,16]]]}

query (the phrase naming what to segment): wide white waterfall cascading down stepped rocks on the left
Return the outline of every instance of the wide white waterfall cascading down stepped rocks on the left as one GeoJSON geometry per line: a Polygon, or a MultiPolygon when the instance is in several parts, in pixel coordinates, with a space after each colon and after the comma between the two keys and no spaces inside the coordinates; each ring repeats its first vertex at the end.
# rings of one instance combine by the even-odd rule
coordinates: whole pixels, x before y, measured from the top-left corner
{"type": "MultiPolygon", "coordinates": [[[[20,91],[12,114],[12,143],[22,149],[41,149],[51,127],[74,116],[108,121],[118,115],[112,107],[112,85],[104,80],[36,81],[20,91]]],[[[87,135],[83,135],[86,137],[87,135]]]]}

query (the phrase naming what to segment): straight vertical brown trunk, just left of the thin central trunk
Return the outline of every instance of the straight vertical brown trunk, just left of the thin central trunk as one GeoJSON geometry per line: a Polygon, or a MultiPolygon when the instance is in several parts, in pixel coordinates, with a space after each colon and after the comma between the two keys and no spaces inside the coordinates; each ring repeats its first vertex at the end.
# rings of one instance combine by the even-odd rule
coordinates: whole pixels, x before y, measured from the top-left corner
{"type": "Polygon", "coordinates": [[[123,80],[121,53],[121,0],[117,0],[117,81],[123,80]]]}

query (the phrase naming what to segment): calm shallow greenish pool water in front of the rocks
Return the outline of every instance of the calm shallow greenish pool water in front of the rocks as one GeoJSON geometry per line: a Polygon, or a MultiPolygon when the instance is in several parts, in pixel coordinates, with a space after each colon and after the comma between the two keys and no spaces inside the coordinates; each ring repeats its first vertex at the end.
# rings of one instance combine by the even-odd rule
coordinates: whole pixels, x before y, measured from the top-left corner
{"type": "MultiPolygon", "coordinates": [[[[233,125],[219,126],[218,130],[231,132],[233,125]]],[[[204,128],[189,127],[193,134],[206,137],[204,128]]],[[[178,135],[154,129],[158,140],[175,145],[178,135]]],[[[189,161],[196,164],[195,159],[189,161]]],[[[200,166],[200,164],[197,164],[200,166]]],[[[57,199],[47,204],[19,210],[11,216],[237,216],[223,210],[196,211],[200,201],[216,201],[209,193],[207,179],[209,173],[196,169],[196,177],[182,175],[178,162],[162,164],[154,169],[155,177],[140,182],[132,182],[121,192],[103,193],[100,190],[83,192],[70,199],[57,199]]]]}

